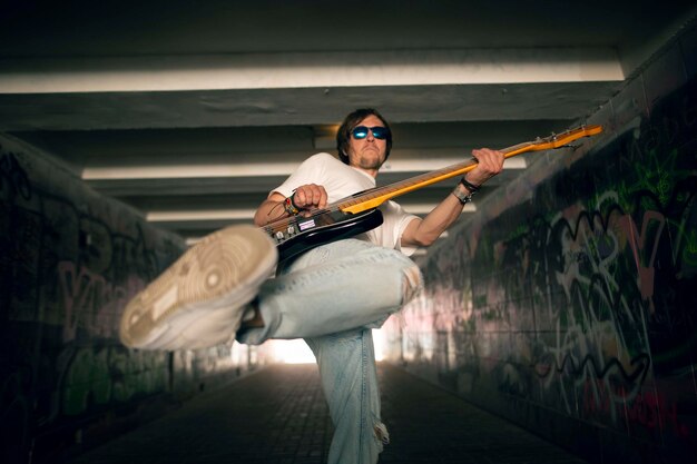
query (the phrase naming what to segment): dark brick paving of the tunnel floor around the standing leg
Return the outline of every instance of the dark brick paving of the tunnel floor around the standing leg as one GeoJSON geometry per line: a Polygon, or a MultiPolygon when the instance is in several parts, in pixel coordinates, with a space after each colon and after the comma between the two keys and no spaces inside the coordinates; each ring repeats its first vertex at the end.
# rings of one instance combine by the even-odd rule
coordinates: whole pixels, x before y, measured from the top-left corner
{"type": "MultiPolygon", "coordinates": [[[[394,366],[381,364],[379,374],[392,440],[381,464],[586,463],[394,366]]],[[[274,365],[70,464],[320,464],[332,433],[316,367],[274,365]]]]}

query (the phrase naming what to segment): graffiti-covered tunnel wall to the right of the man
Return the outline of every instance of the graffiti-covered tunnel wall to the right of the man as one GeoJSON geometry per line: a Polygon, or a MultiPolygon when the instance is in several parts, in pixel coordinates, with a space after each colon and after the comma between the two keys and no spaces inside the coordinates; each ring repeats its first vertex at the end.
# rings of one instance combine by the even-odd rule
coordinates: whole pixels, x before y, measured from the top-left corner
{"type": "Polygon", "coordinates": [[[429,254],[389,357],[593,462],[693,462],[696,36],[429,254]]]}

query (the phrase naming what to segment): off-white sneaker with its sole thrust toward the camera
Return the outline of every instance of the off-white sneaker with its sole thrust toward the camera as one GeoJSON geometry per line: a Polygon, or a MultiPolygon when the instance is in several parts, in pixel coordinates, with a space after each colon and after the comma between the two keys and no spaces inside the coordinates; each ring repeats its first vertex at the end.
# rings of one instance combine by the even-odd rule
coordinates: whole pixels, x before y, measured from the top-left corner
{"type": "Polygon", "coordinates": [[[121,343],[169,351],[232,343],[277,259],[271,237],[254,226],[205,237],[126,305],[121,343]]]}

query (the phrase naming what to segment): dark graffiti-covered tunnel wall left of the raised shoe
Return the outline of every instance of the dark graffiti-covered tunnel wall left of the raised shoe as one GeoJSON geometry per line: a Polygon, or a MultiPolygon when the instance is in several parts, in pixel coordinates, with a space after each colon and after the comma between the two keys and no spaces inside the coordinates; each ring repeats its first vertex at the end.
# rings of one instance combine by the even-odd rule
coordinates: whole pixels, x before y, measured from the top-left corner
{"type": "Polygon", "coordinates": [[[254,367],[254,348],[129,351],[126,302],[183,240],[0,135],[3,463],[53,462],[254,367]]]}

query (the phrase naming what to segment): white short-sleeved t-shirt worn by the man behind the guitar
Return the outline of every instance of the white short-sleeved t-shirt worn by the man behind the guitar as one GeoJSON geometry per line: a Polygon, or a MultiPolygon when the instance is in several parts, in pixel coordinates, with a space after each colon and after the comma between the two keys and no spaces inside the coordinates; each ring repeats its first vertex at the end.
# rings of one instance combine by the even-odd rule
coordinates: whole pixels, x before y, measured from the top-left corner
{"type": "MultiPolygon", "coordinates": [[[[360,169],[343,164],[330,154],[316,154],[307,158],[303,164],[273,191],[284,197],[289,197],[293,191],[303,185],[316,184],[324,187],[327,192],[327,203],[332,204],[359,191],[375,187],[375,178],[360,169]]],[[[379,209],[383,215],[383,224],[355,238],[371,241],[386,248],[394,248],[406,256],[411,256],[416,248],[402,247],[400,238],[404,229],[413,219],[394,201],[385,201],[379,209]]]]}

